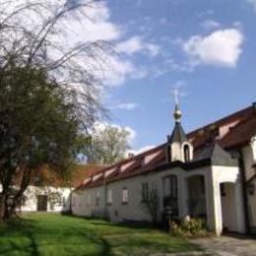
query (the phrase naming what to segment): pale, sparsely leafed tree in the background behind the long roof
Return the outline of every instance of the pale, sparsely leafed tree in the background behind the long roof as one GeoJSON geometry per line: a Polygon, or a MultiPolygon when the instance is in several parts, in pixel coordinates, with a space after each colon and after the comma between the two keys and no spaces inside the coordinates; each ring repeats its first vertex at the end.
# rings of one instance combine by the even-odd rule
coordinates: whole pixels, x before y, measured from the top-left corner
{"type": "Polygon", "coordinates": [[[88,161],[101,164],[112,164],[123,160],[130,149],[130,132],[125,128],[106,125],[91,138],[87,151],[88,161]]]}

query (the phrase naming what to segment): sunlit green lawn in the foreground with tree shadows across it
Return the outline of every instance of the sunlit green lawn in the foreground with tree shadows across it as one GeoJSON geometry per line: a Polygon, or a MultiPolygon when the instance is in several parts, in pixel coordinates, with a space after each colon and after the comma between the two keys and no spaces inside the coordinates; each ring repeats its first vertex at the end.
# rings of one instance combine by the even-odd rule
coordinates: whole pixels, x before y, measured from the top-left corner
{"type": "Polygon", "coordinates": [[[28,214],[0,228],[0,255],[149,255],[198,250],[157,229],[28,214]]]}

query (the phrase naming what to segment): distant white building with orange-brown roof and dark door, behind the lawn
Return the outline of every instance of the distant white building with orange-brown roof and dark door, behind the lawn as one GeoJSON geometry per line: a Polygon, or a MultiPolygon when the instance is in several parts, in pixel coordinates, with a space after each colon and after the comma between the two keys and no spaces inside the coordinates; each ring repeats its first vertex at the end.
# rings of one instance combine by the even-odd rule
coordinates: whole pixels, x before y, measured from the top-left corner
{"type": "MultiPolygon", "coordinates": [[[[81,180],[87,178],[99,167],[94,164],[77,165],[69,181],[64,181],[47,167],[37,171],[30,186],[25,191],[18,208],[20,212],[69,212],[71,210],[71,193],[81,180]]],[[[19,180],[19,177],[17,177],[19,180]]],[[[20,182],[15,182],[19,184],[20,182]]],[[[13,194],[18,185],[12,187],[13,194]]],[[[1,192],[0,184],[0,192],[1,192]]]]}

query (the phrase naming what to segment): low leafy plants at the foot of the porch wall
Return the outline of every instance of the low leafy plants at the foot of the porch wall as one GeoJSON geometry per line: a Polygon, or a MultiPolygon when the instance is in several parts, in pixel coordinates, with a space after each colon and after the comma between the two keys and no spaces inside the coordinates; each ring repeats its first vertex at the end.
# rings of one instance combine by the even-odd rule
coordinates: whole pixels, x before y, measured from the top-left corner
{"type": "Polygon", "coordinates": [[[169,222],[171,234],[181,237],[201,237],[209,236],[207,225],[203,219],[190,219],[182,221],[180,224],[169,222]]]}

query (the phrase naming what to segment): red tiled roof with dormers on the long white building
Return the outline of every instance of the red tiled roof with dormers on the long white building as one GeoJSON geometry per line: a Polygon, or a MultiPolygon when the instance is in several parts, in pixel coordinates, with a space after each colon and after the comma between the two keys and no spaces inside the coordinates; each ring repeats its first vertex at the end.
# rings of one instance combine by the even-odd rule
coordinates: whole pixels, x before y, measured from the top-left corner
{"type": "MultiPolygon", "coordinates": [[[[216,135],[218,136],[215,141],[218,141],[218,144],[224,149],[230,149],[248,143],[251,137],[256,135],[255,105],[189,133],[187,138],[195,149],[195,158],[191,162],[191,166],[195,165],[196,161],[213,158],[212,153],[215,151],[211,150],[213,149],[211,148],[211,145],[213,145],[212,133],[217,130],[218,134],[216,135]]],[[[161,165],[166,165],[165,146],[166,144],[162,144],[138,156],[99,169],[96,173],[87,177],[79,188],[93,187],[102,184],[102,182],[147,173],[159,168],[161,165]]]]}

